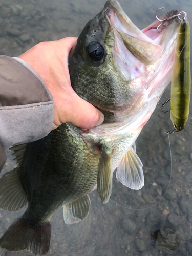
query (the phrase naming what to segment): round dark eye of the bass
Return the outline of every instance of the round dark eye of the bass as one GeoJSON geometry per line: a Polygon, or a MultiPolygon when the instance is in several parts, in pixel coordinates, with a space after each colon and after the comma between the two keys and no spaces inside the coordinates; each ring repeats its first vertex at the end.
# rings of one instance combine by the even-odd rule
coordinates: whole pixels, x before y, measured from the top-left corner
{"type": "Polygon", "coordinates": [[[88,46],[88,53],[94,62],[100,61],[104,56],[104,47],[99,42],[92,42],[88,46]]]}

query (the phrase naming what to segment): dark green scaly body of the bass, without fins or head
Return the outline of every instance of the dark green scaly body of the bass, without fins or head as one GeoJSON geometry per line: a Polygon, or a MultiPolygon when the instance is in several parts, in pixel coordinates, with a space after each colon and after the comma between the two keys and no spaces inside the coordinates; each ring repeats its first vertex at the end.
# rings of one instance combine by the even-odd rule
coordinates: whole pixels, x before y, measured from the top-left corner
{"type": "Polygon", "coordinates": [[[94,189],[99,155],[91,154],[81,134],[75,133],[72,125],[61,125],[40,141],[28,144],[26,151],[20,173],[23,186],[28,188],[28,197],[33,202],[26,213],[27,219],[34,220],[33,224],[50,219],[55,208],[59,209],[94,189]],[[46,147],[46,153],[42,156],[44,159],[40,163],[36,161],[30,172],[26,165],[34,162],[36,156],[41,154],[42,144],[46,147]],[[87,158],[88,155],[91,156],[91,161],[87,158]],[[42,183],[41,177],[44,177],[42,183]],[[30,182],[27,183],[26,180],[30,182]]]}

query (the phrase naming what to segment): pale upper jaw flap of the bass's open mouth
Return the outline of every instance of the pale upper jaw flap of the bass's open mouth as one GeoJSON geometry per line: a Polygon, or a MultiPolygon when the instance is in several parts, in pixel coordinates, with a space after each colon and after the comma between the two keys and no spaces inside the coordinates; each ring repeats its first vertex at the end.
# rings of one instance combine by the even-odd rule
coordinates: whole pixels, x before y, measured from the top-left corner
{"type": "Polygon", "coordinates": [[[144,65],[151,65],[161,55],[162,47],[141,32],[124,13],[117,1],[106,3],[105,12],[126,48],[144,65]]]}

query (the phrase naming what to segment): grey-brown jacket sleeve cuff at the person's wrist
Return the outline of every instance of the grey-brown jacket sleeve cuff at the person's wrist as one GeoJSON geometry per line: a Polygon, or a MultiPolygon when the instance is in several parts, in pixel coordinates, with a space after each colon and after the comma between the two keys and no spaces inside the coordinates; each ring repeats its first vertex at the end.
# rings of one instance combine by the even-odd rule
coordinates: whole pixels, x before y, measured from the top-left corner
{"type": "Polygon", "coordinates": [[[5,150],[51,131],[53,108],[45,83],[25,61],[0,56],[0,171],[5,150]]]}

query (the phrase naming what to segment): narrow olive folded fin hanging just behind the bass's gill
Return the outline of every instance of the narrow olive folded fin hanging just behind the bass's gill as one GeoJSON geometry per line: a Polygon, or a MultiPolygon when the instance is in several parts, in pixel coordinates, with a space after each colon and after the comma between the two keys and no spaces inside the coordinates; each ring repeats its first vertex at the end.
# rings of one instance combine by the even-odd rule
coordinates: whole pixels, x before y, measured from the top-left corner
{"type": "Polygon", "coordinates": [[[112,153],[108,152],[106,145],[102,145],[97,174],[97,191],[102,202],[109,201],[112,191],[113,161],[112,153]]]}

